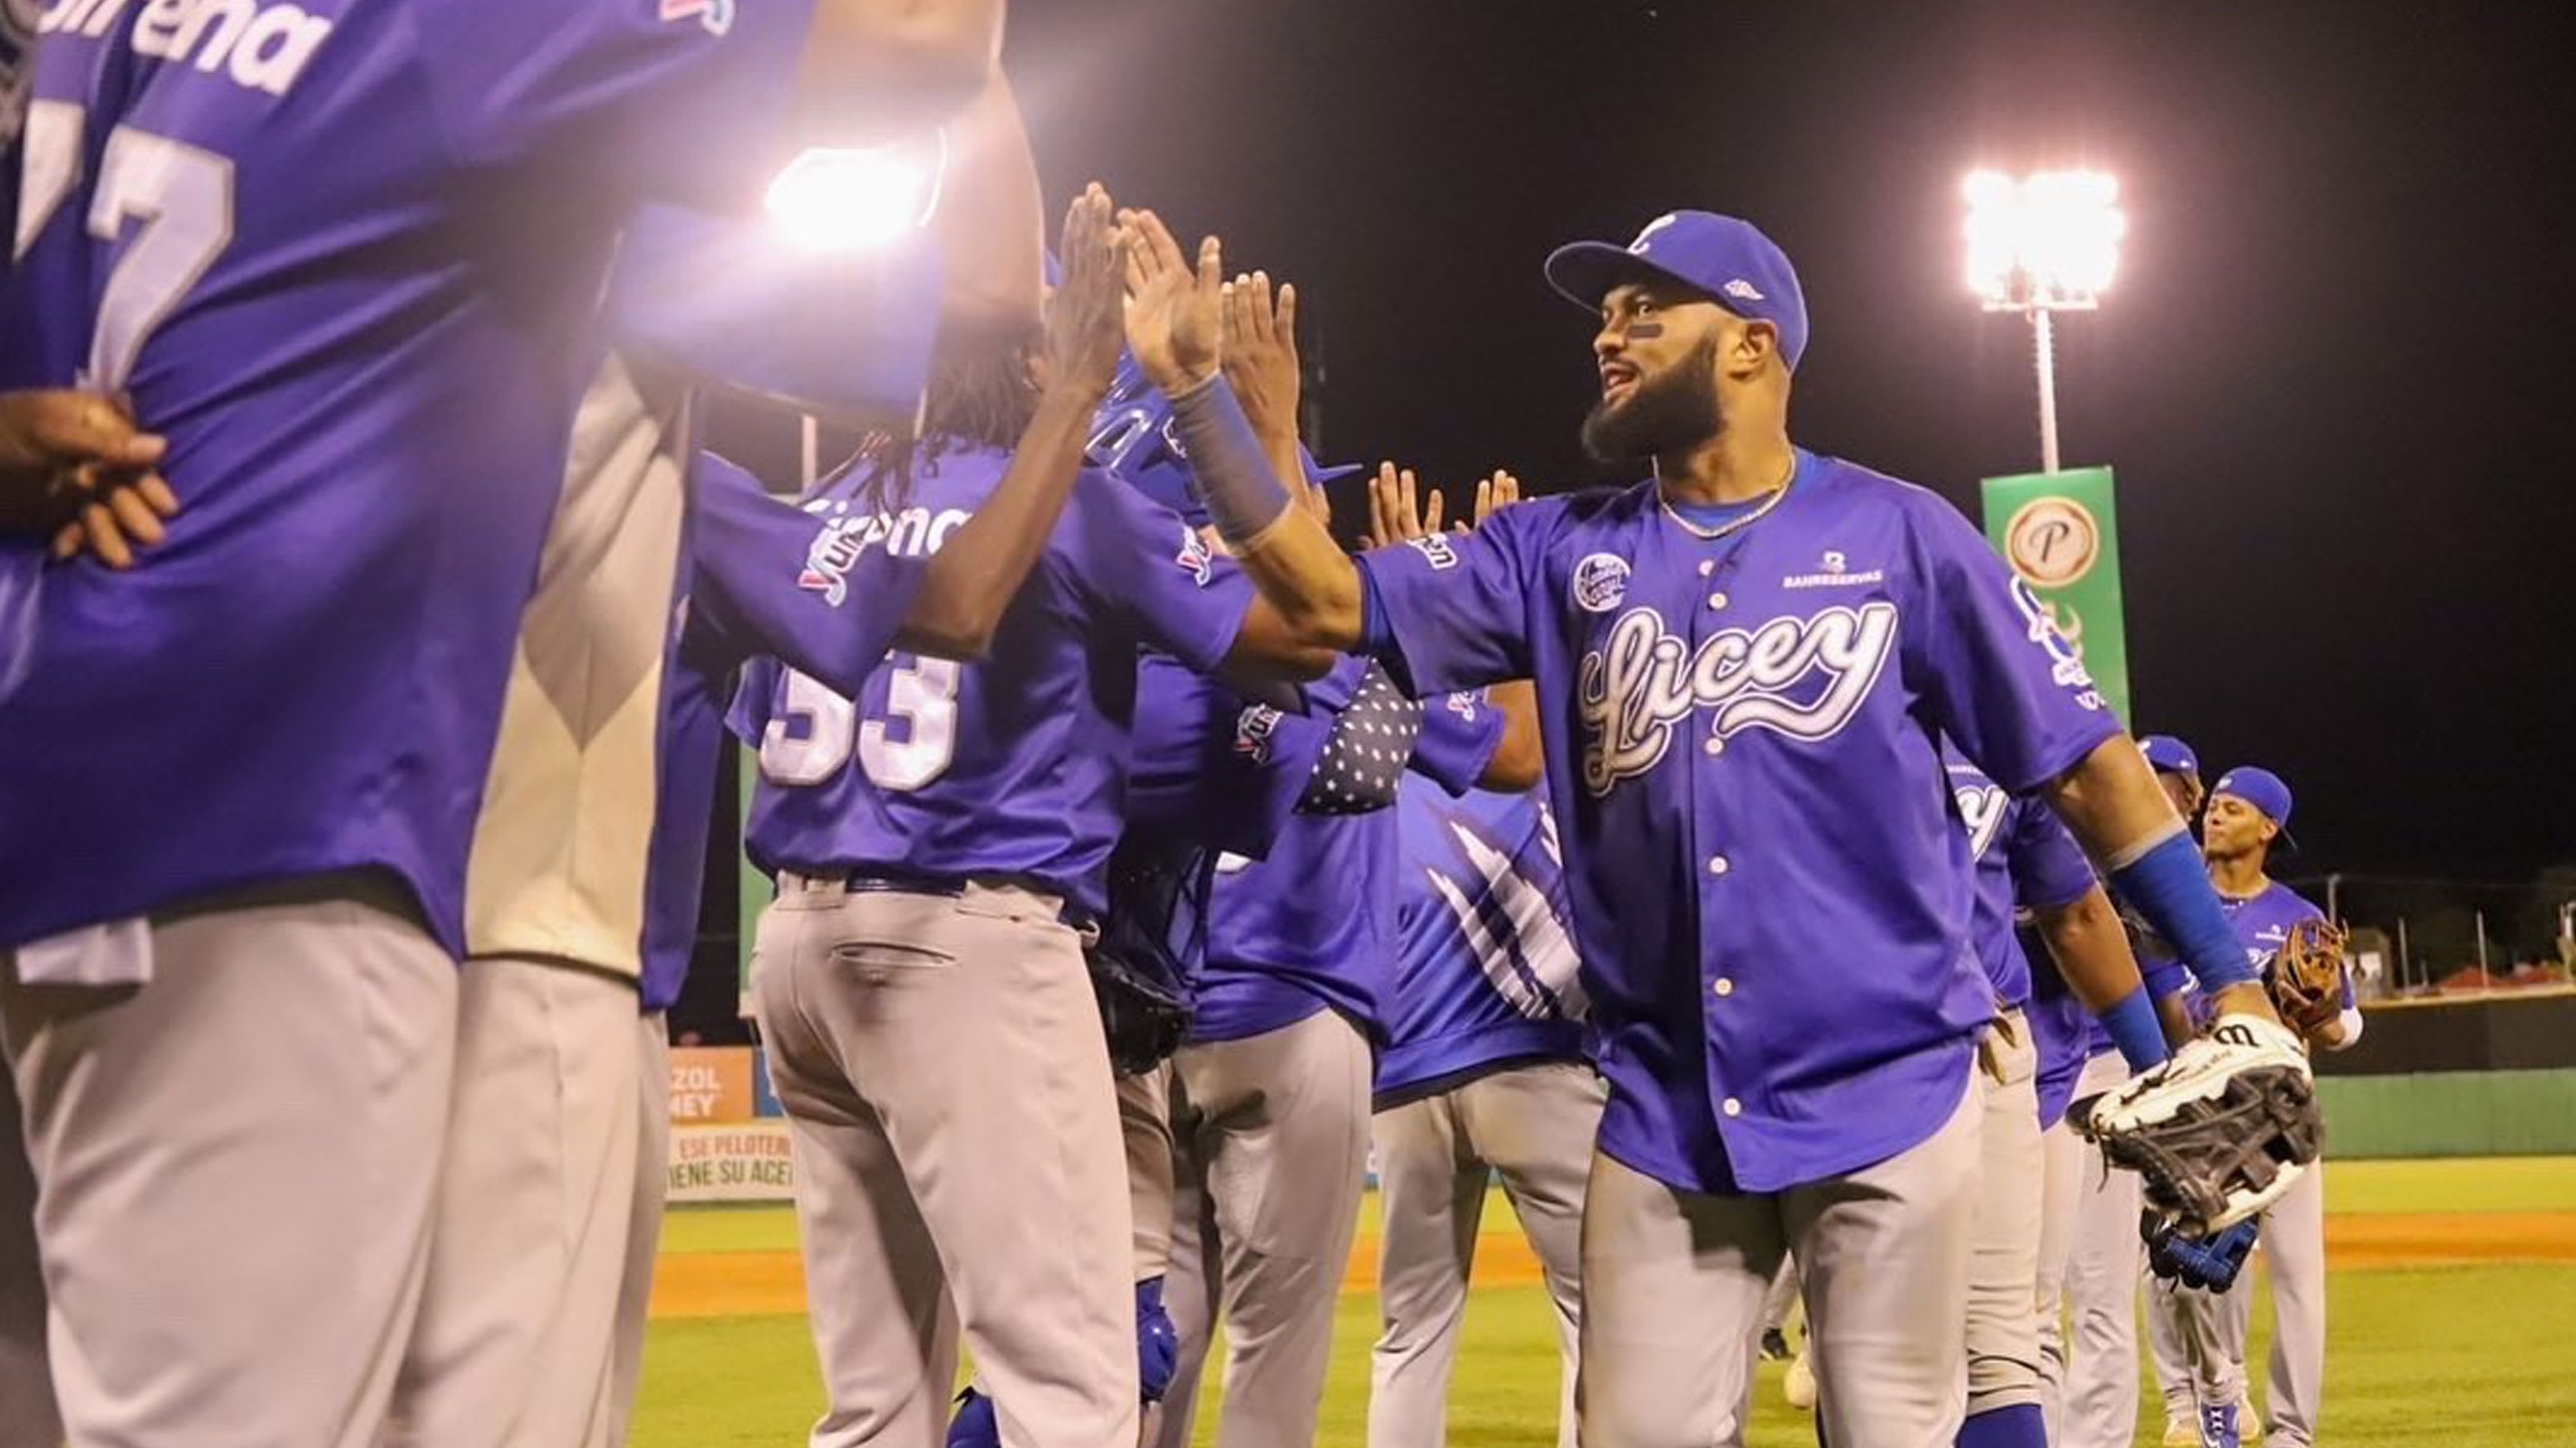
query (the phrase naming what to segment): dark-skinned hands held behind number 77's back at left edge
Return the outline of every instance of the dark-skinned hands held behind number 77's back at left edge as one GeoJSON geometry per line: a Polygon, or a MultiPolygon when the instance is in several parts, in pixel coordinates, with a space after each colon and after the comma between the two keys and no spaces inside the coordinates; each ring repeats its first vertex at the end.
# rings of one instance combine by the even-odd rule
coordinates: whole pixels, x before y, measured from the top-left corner
{"type": "Polygon", "coordinates": [[[178,495],[152,472],[167,443],[131,410],[88,392],[0,394],[0,531],[54,536],[54,557],[93,551],[134,567],[160,544],[178,495]]]}

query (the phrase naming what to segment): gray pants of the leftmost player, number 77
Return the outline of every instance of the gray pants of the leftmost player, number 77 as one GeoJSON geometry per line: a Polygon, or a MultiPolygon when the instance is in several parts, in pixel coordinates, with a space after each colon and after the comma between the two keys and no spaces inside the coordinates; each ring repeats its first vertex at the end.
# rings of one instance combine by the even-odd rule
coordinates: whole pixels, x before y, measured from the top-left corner
{"type": "Polygon", "coordinates": [[[374,1448],[420,1306],[456,961],[392,876],[149,922],[152,979],[0,1018],[82,1448],[374,1448]]]}

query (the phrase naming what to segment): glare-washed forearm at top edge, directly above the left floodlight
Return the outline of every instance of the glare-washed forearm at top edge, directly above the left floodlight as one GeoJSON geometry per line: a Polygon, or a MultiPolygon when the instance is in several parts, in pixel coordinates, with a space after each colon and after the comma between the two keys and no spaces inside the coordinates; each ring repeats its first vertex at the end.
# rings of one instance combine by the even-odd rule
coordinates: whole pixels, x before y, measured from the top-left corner
{"type": "Polygon", "coordinates": [[[938,126],[1002,62],[1005,0],[817,0],[796,77],[806,144],[860,147],[938,126]]]}

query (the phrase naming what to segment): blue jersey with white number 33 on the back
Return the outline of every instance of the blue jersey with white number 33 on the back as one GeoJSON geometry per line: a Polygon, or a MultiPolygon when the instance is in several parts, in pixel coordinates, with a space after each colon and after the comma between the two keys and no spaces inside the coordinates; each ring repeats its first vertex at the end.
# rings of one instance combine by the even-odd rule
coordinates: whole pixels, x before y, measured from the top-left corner
{"type": "MultiPolygon", "coordinates": [[[[1007,464],[961,448],[920,461],[909,500],[871,500],[853,474],[809,508],[840,518],[848,549],[935,551],[1007,464]]],[[[817,587],[842,569],[817,546],[817,587]]],[[[896,652],[855,701],[768,660],[744,672],[734,729],[760,739],[752,861],[1007,879],[1097,915],[1126,812],[1136,652],[1216,670],[1249,603],[1244,575],[1177,515],[1084,469],[987,660],[896,652]]]]}

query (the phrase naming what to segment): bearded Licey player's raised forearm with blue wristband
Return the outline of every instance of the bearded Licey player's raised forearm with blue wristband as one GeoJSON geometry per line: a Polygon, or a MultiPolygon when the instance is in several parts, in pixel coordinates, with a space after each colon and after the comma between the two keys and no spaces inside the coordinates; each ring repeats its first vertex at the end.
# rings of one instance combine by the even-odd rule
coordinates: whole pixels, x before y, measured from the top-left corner
{"type": "MultiPolygon", "coordinates": [[[[1224,376],[1172,397],[1208,515],[1280,626],[1309,649],[1360,644],[1360,569],[1280,482],[1224,376]]],[[[1303,482],[1303,479],[1298,479],[1303,482]]]]}

